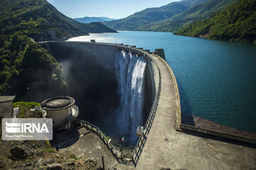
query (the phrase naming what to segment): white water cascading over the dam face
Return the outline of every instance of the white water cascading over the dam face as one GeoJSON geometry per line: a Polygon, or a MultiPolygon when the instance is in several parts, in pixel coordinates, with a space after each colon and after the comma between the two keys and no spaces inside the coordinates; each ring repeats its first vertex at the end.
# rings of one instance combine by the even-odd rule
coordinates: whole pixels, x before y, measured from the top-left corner
{"type": "Polygon", "coordinates": [[[146,61],[131,52],[120,51],[115,57],[115,76],[118,82],[117,93],[121,102],[117,109],[119,132],[131,135],[129,140],[137,140],[136,130],[142,125],[144,103],[144,72],[146,61]]]}

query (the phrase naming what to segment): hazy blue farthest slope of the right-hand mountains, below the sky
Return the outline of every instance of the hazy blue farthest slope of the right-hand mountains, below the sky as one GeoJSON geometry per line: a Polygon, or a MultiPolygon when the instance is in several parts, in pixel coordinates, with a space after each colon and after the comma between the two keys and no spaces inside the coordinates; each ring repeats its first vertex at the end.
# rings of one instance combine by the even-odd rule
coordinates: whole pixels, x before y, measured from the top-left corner
{"type": "Polygon", "coordinates": [[[172,2],[159,8],[146,8],[145,10],[134,13],[133,15],[124,19],[103,23],[114,30],[138,30],[138,28],[141,26],[166,18],[171,18],[177,13],[186,11],[186,9],[190,8],[191,6],[203,3],[205,1],[208,0],[183,0],[172,2]]]}

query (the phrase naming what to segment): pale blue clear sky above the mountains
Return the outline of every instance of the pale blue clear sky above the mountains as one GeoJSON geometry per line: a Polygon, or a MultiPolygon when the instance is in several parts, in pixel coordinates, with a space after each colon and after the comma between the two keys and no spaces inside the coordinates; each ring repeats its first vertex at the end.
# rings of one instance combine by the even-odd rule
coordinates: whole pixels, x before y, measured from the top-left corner
{"type": "Polygon", "coordinates": [[[179,0],[47,0],[70,18],[105,16],[124,18],[145,8],[159,7],[179,0]]]}

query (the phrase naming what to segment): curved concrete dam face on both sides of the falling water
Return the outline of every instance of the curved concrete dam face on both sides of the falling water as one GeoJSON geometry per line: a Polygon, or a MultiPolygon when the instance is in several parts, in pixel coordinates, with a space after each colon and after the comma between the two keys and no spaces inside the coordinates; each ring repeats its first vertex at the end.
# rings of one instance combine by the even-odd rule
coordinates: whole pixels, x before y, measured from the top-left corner
{"type": "Polygon", "coordinates": [[[60,63],[70,60],[70,57],[77,61],[86,60],[92,66],[97,65],[103,72],[107,72],[112,79],[114,79],[114,62],[117,52],[124,50],[132,52],[139,57],[144,57],[146,60],[147,110],[151,108],[159,84],[159,69],[150,57],[149,50],[129,45],[100,42],[48,41],[41,42],[41,45],[46,47],[60,63]]]}

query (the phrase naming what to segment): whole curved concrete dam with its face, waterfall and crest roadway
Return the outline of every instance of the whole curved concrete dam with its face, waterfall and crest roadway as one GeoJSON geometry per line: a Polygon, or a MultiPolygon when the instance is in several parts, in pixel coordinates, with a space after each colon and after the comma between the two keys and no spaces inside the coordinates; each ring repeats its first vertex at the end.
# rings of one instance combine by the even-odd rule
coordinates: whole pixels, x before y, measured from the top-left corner
{"type": "Polygon", "coordinates": [[[62,64],[66,93],[76,99],[80,119],[95,123],[112,138],[110,142],[87,124],[89,130],[80,129],[75,141],[60,133],[73,142],[60,143],[59,152],[68,150],[97,162],[104,156],[107,169],[255,169],[255,145],[247,144],[255,140],[181,123],[178,85],[162,50],[152,54],[134,46],[96,42],[41,45],[62,64]],[[125,137],[124,147],[134,145],[137,125],[146,131],[132,153],[112,145],[115,136],[125,137]]]}

